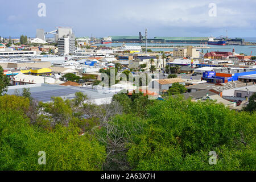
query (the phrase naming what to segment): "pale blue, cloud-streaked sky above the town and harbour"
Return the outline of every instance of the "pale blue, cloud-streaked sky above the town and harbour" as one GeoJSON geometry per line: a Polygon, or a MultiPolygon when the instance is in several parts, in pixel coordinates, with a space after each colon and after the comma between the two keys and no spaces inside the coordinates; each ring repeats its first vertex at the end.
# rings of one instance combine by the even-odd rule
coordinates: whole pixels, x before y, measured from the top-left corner
{"type": "MultiPolygon", "coordinates": [[[[0,0],[0,36],[73,27],[78,36],[256,37],[255,0],[0,0]],[[39,3],[46,16],[39,16],[39,3]],[[212,6],[214,4],[215,6],[212,6]],[[216,7],[216,9],[214,9],[216,7]],[[215,11],[216,10],[216,11],[215,11]]],[[[40,11],[42,12],[42,11],[40,11]]]]}

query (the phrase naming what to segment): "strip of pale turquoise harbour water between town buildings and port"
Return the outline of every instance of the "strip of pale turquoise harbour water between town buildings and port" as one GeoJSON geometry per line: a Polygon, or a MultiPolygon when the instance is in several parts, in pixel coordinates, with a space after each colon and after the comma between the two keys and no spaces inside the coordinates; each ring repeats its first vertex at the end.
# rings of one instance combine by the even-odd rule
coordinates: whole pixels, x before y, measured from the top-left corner
{"type": "MultiPolygon", "coordinates": [[[[252,39],[251,39],[252,40],[252,39]]],[[[256,38],[255,38],[256,41],[256,38]]],[[[145,44],[140,43],[125,43],[127,46],[145,46],[145,44]]],[[[106,46],[106,47],[118,47],[122,46],[123,43],[112,43],[112,44],[94,44],[94,46],[106,46]]],[[[170,44],[170,43],[148,43],[147,46],[200,46],[200,44],[170,44]]],[[[211,51],[227,51],[232,52],[233,48],[235,49],[236,53],[244,53],[245,55],[253,55],[256,56],[256,46],[214,46],[214,45],[207,45],[210,48],[203,48],[204,53],[211,52],[211,51]]],[[[173,51],[173,48],[149,48],[152,51],[173,51]]]]}

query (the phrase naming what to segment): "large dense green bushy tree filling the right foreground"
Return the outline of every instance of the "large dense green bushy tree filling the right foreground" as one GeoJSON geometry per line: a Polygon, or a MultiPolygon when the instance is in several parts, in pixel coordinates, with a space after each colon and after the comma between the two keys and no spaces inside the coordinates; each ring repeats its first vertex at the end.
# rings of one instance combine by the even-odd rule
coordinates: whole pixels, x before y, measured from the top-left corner
{"type": "Polygon", "coordinates": [[[148,108],[147,125],[127,159],[139,171],[255,170],[255,122],[255,113],[169,98],[148,108]],[[209,164],[210,151],[216,151],[217,165],[209,164]]]}

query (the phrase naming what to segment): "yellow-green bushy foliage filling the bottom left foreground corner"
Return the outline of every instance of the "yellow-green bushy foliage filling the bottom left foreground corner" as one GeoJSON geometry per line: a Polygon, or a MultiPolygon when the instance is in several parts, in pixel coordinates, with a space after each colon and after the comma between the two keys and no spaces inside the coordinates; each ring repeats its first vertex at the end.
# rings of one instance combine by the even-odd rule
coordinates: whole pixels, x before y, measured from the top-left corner
{"type": "Polygon", "coordinates": [[[19,111],[0,110],[1,171],[100,170],[105,148],[95,138],[70,125],[47,131],[32,126],[19,111]],[[46,165],[38,164],[39,151],[46,152],[46,165]]]}

